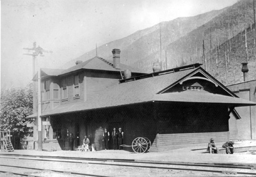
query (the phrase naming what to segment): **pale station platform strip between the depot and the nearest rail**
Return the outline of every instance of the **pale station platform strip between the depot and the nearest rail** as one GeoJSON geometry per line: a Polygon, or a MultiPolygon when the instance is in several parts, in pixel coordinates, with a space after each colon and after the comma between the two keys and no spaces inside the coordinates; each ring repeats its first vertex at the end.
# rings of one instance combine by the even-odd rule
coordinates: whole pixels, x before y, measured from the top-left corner
{"type": "MultiPolygon", "coordinates": [[[[221,144],[222,145],[222,144],[221,144]]],[[[219,144],[217,143],[218,147],[219,144]]],[[[156,162],[184,162],[184,163],[211,163],[211,164],[253,164],[256,166],[256,141],[235,141],[235,153],[210,154],[205,153],[205,146],[191,146],[163,152],[134,153],[125,150],[102,151],[36,151],[14,150],[13,152],[1,151],[1,154],[38,155],[52,157],[77,157],[77,158],[106,158],[106,159],[130,159],[147,160],[156,162]],[[241,151],[239,151],[239,149],[241,151]],[[246,150],[247,149],[247,150],[246,150]]]]}

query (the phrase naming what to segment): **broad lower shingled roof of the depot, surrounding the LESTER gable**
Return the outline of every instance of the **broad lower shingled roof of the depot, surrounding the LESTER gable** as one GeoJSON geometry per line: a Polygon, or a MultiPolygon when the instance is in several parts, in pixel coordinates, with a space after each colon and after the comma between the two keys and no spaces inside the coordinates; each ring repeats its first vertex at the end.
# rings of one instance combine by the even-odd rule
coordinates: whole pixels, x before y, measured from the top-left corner
{"type": "MultiPolygon", "coordinates": [[[[68,112],[88,111],[92,109],[102,109],[106,107],[116,107],[121,105],[140,104],[145,102],[200,102],[209,104],[227,104],[230,107],[256,105],[254,102],[237,98],[232,91],[226,88],[229,93],[227,95],[218,95],[212,93],[196,93],[191,95],[184,92],[180,93],[160,93],[164,88],[170,88],[173,84],[179,84],[193,73],[205,72],[201,67],[180,70],[179,72],[163,73],[162,75],[154,75],[145,79],[134,78],[134,81],[122,82],[109,88],[104,93],[79,104],[60,105],[56,109],[44,112],[42,116],[50,116],[53,114],[62,114],[68,112]]],[[[150,75],[150,74],[148,74],[150,75]]],[[[138,77],[140,78],[140,76],[138,77]]],[[[213,77],[212,77],[213,78],[213,77]]],[[[218,86],[224,87],[220,82],[213,78],[212,82],[216,82],[218,86]]]]}

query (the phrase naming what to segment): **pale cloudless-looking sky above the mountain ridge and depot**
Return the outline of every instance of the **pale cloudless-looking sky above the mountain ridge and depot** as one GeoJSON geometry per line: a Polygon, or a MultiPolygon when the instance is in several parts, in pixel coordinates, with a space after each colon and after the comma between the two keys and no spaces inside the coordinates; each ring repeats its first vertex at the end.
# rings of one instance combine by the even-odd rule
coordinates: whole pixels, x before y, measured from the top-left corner
{"type": "Polygon", "coordinates": [[[220,10],[237,0],[1,0],[1,89],[33,77],[33,42],[41,68],[61,68],[97,46],[162,21],[220,10]]]}

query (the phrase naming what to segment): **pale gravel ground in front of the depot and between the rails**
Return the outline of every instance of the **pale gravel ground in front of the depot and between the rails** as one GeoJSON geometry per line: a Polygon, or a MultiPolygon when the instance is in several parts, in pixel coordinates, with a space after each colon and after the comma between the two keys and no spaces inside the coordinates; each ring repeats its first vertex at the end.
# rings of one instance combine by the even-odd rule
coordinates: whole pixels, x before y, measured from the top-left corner
{"type": "MultiPolygon", "coordinates": [[[[207,143],[206,143],[207,144],[207,143]]],[[[221,146],[220,144],[217,144],[221,146]]],[[[256,146],[256,141],[236,141],[235,148],[256,146]]],[[[13,152],[1,152],[1,154],[22,154],[22,155],[45,155],[45,156],[63,156],[63,157],[86,157],[86,158],[120,158],[135,160],[152,160],[161,162],[191,162],[191,163],[228,163],[228,164],[252,164],[256,167],[256,155],[252,152],[226,154],[209,154],[202,151],[191,151],[193,149],[205,148],[202,146],[193,146],[179,150],[164,151],[157,153],[131,153],[128,151],[107,150],[95,152],[79,152],[79,151],[35,151],[35,150],[15,150],[13,152]]],[[[255,154],[255,153],[254,153],[255,154]]],[[[3,163],[2,161],[0,162],[3,163]]],[[[237,176],[236,174],[221,173],[204,173],[198,171],[181,171],[168,169],[152,169],[141,167],[120,167],[109,165],[93,165],[93,164],[63,164],[61,162],[40,162],[36,161],[31,164],[29,160],[8,159],[4,160],[4,164],[16,164],[31,167],[44,167],[44,169],[57,169],[63,171],[78,171],[81,173],[100,174],[104,176],[237,176]]],[[[2,167],[1,167],[2,169],[2,167]]],[[[67,176],[68,174],[53,173],[49,171],[41,171],[34,175],[39,176],[67,176]]],[[[1,174],[0,176],[12,176],[12,174],[1,174]]],[[[31,174],[33,175],[33,174],[31,174]]],[[[73,175],[72,175],[73,176],[73,175]]],[[[239,175],[241,176],[241,175],[239,175]]]]}

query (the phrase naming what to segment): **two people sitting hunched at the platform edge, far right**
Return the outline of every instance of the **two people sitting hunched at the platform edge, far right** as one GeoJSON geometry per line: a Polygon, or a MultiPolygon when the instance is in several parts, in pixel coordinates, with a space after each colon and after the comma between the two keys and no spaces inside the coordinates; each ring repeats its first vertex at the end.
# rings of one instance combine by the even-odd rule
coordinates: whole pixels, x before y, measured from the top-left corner
{"type": "MultiPolygon", "coordinates": [[[[234,141],[227,141],[222,145],[222,148],[226,149],[227,154],[233,154],[234,153],[233,144],[235,144],[234,141]]],[[[209,151],[209,153],[218,153],[218,151],[219,151],[215,145],[213,138],[211,138],[210,142],[208,143],[207,151],[209,151]]]]}

